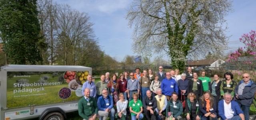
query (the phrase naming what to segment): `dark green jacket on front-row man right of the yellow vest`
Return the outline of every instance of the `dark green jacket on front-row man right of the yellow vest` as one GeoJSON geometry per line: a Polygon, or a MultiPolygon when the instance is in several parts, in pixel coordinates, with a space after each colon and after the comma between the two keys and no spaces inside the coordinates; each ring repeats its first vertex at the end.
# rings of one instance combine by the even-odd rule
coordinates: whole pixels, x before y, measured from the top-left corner
{"type": "Polygon", "coordinates": [[[174,118],[177,118],[182,114],[183,106],[180,100],[177,100],[177,102],[175,103],[175,106],[176,108],[174,108],[172,99],[168,101],[168,104],[166,106],[166,117],[168,117],[168,112],[172,112],[174,118]]]}

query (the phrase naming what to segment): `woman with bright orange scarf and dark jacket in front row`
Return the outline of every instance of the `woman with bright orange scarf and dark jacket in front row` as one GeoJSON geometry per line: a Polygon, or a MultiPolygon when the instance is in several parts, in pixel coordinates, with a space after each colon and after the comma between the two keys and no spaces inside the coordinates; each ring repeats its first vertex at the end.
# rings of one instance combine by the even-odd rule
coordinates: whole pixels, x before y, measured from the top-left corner
{"type": "Polygon", "coordinates": [[[202,120],[217,120],[217,107],[215,104],[215,99],[210,91],[204,92],[199,100],[199,110],[202,112],[202,120]]]}

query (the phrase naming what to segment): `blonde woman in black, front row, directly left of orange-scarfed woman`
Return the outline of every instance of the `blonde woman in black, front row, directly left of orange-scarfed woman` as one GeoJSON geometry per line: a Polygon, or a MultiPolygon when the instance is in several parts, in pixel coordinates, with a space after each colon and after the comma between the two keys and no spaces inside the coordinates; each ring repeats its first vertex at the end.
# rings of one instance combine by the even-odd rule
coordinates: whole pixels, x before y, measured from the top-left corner
{"type": "Polygon", "coordinates": [[[185,102],[184,114],[187,120],[200,120],[199,103],[196,100],[196,95],[193,92],[188,94],[188,99],[185,102]]]}

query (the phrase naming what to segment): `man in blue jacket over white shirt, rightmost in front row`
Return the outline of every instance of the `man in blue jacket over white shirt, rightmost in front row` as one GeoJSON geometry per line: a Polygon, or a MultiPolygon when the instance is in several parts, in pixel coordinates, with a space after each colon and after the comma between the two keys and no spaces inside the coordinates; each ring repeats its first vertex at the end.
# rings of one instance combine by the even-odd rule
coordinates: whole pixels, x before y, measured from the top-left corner
{"type": "Polygon", "coordinates": [[[218,103],[218,111],[221,120],[244,120],[244,112],[240,109],[238,103],[232,100],[231,94],[226,92],[224,100],[218,103]]]}

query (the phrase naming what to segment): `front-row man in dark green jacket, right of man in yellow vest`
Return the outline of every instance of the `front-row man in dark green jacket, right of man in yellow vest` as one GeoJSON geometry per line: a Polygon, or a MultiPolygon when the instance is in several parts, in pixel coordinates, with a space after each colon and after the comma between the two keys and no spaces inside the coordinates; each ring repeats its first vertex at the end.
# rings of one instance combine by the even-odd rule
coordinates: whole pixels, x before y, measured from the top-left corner
{"type": "MultiPolygon", "coordinates": [[[[176,92],[172,92],[172,99],[168,101],[166,106],[166,117],[168,116],[168,112],[172,112],[172,120],[183,120],[181,114],[183,112],[182,102],[178,100],[178,94],[176,92]]],[[[170,120],[170,118],[168,118],[170,120]]]]}

